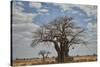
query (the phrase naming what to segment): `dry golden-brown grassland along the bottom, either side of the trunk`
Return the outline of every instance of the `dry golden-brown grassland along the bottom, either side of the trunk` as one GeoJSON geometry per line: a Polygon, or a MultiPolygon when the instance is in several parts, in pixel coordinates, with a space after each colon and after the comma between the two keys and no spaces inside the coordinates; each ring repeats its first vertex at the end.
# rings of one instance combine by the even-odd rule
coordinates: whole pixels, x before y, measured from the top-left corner
{"type": "MultiPolygon", "coordinates": [[[[97,61],[97,56],[88,55],[88,56],[74,56],[74,57],[66,57],[64,63],[75,63],[75,62],[91,62],[97,61]]],[[[17,59],[13,60],[13,66],[26,66],[26,65],[42,65],[42,64],[57,64],[56,58],[45,58],[45,61],[42,58],[34,58],[34,59],[17,59]]]]}

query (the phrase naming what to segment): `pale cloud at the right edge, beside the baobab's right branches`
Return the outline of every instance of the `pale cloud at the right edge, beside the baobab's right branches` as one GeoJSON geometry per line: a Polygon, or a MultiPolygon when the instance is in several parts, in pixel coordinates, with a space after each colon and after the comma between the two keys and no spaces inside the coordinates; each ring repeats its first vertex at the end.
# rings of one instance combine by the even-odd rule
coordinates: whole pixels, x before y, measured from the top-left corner
{"type": "MultiPolygon", "coordinates": [[[[85,40],[88,41],[89,45],[97,45],[97,24],[95,23],[88,23],[87,24],[87,31],[84,36],[85,40]]],[[[96,49],[96,48],[95,48],[96,49]]]]}

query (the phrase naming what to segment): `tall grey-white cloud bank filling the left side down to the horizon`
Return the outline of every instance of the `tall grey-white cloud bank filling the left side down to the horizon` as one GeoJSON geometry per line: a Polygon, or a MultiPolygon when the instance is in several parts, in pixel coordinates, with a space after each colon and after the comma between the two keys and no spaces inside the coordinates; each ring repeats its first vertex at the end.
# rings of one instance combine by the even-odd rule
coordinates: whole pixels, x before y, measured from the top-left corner
{"type": "MultiPolygon", "coordinates": [[[[24,8],[17,6],[17,2],[13,2],[12,12],[12,43],[13,43],[13,58],[21,56],[21,52],[30,49],[29,45],[32,42],[33,31],[39,28],[38,25],[34,24],[34,18],[38,14],[25,13],[24,8]],[[22,50],[24,48],[25,50],[22,50]],[[26,49],[27,48],[27,49],[26,49]]],[[[27,52],[29,52],[28,50],[27,52]]],[[[28,53],[25,53],[25,56],[28,53]]]]}

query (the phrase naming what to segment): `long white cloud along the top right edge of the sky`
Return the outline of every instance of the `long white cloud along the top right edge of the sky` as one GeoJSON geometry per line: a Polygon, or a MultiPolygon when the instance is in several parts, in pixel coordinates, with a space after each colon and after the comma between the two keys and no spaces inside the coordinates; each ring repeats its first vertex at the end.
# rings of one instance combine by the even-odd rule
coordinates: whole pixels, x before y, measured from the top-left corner
{"type": "Polygon", "coordinates": [[[73,10],[73,7],[78,7],[81,10],[83,10],[88,16],[97,14],[97,6],[95,5],[71,5],[71,4],[53,4],[53,5],[61,8],[62,12],[67,11],[67,10],[73,10]]]}

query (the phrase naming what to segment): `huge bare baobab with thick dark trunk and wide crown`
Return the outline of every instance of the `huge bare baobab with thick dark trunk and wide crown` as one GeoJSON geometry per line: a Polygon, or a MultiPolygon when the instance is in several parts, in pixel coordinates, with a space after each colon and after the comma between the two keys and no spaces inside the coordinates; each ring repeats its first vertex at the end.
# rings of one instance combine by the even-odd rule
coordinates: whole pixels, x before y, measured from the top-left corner
{"type": "Polygon", "coordinates": [[[69,48],[75,44],[86,44],[82,38],[84,29],[77,27],[71,17],[57,17],[50,23],[41,26],[34,33],[32,47],[41,42],[51,42],[57,52],[57,62],[64,62],[64,57],[69,57],[69,48]]]}

